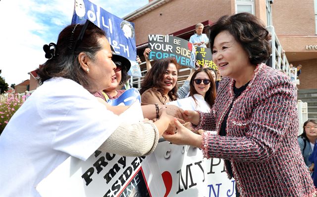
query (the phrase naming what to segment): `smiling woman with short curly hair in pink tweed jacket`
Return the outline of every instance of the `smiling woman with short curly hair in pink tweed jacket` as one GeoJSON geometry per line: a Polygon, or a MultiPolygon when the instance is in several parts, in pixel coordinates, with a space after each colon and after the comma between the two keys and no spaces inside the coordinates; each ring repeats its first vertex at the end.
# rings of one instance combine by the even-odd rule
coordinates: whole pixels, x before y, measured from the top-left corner
{"type": "Polygon", "coordinates": [[[206,158],[223,158],[237,196],[313,197],[316,191],[297,142],[297,93],[283,73],[261,63],[268,58],[268,32],[254,15],[221,17],[212,27],[213,62],[224,79],[211,113],[185,111],[198,135],[177,120],[173,144],[202,148],[206,158]]]}

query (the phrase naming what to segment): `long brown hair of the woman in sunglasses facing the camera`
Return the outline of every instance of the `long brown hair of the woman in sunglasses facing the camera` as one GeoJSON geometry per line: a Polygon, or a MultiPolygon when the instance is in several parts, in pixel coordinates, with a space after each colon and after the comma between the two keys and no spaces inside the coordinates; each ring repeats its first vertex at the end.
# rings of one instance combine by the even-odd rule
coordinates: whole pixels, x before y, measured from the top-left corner
{"type": "Polygon", "coordinates": [[[202,69],[199,69],[197,71],[195,71],[195,73],[193,74],[191,80],[190,80],[190,88],[189,88],[189,95],[193,97],[194,101],[197,103],[197,100],[195,99],[194,97],[194,94],[197,94],[197,90],[195,89],[195,86],[194,86],[194,79],[196,77],[196,75],[200,72],[205,72],[209,79],[210,79],[210,87],[209,89],[207,90],[206,92],[206,95],[205,95],[205,101],[208,103],[208,105],[210,107],[212,107],[212,105],[214,104],[214,100],[216,99],[216,84],[212,78],[212,75],[211,75],[211,70],[209,68],[202,68],[202,69]]]}

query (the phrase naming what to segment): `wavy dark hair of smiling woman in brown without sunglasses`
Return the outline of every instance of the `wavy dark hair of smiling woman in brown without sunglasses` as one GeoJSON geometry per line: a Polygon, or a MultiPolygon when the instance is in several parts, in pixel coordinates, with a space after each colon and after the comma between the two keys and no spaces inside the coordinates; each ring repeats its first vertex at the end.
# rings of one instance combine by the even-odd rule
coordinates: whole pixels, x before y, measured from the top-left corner
{"type": "MultiPolygon", "coordinates": [[[[147,89],[153,87],[156,88],[161,94],[163,94],[164,89],[162,79],[170,63],[175,64],[178,74],[180,66],[177,64],[175,58],[166,58],[156,61],[143,80],[140,89],[140,94],[143,94],[143,92],[145,92],[147,89]]],[[[175,85],[173,89],[168,92],[168,96],[173,100],[177,99],[177,85],[175,85]]]]}

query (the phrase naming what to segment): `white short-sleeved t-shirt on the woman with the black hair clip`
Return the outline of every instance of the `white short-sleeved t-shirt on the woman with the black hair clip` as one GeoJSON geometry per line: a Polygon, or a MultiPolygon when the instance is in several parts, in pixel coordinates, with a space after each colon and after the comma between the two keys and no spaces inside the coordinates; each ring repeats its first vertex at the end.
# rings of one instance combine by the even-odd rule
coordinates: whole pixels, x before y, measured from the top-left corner
{"type": "Polygon", "coordinates": [[[119,124],[75,81],[45,81],[0,136],[0,196],[40,196],[36,185],[56,166],[69,156],[86,160],[119,124]]]}

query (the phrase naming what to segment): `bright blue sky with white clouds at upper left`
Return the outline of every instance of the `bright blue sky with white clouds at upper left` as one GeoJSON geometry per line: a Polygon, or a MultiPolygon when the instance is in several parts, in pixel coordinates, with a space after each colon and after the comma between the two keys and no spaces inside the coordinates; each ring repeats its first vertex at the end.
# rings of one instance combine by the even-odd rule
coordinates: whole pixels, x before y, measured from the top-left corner
{"type": "MultiPolygon", "coordinates": [[[[149,0],[90,0],[120,18],[149,0]]],[[[0,0],[0,76],[16,85],[47,59],[43,45],[57,42],[71,23],[75,0],[0,0]]]]}

